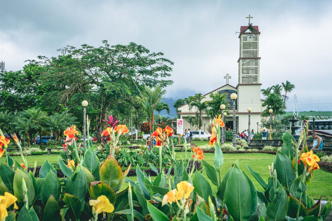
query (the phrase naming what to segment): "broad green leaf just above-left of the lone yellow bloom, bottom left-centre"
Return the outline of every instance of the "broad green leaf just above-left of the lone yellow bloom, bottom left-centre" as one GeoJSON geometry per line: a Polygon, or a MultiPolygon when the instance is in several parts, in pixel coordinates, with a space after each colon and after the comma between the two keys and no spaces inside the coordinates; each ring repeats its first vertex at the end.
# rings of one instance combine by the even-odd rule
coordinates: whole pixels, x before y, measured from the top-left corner
{"type": "Polygon", "coordinates": [[[77,173],[77,175],[71,182],[66,184],[65,192],[77,196],[83,205],[87,191],[87,181],[83,170],[75,171],[75,173],[77,173]]]}

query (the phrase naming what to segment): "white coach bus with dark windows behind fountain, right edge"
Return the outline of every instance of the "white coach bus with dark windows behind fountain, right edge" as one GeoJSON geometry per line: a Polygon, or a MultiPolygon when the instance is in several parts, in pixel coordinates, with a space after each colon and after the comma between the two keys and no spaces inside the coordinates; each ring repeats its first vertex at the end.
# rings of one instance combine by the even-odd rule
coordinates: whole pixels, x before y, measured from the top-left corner
{"type": "MultiPolygon", "coordinates": [[[[312,134],[313,124],[312,121],[309,122],[308,135],[312,134]]],[[[317,134],[322,139],[332,138],[332,119],[328,120],[315,120],[315,134],[317,134]]]]}

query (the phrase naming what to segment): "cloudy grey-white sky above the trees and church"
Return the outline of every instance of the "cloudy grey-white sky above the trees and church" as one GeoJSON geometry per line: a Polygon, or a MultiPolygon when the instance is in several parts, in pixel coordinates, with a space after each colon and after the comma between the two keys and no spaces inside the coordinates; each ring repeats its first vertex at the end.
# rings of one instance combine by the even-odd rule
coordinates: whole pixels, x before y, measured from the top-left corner
{"type": "Polygon", "coordinates": [[[175,64],[167,97],[236,86],[240,26],[261,31],[262,88],[286,82],[298,110],[332,110],[332,1],[2,1],[0,61],[19,70],[27,59],[57,56],[66,45],[133,41],[175,64]]]}

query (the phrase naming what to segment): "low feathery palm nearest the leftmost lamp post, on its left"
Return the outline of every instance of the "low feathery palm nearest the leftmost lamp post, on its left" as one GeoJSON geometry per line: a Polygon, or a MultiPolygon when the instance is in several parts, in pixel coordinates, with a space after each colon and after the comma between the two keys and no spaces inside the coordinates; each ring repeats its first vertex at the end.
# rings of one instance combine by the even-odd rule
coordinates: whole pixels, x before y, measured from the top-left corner
{"type": "Polygon", "coordinates": [[[61,140],[61,134],[74,124],[76,121],[76,117],[72,115],[62,112],[62,113],[54,113],[51,115],[45,122],[45,125],[48,130],[52,130],[54,132],[55,142],[61,140]]]}

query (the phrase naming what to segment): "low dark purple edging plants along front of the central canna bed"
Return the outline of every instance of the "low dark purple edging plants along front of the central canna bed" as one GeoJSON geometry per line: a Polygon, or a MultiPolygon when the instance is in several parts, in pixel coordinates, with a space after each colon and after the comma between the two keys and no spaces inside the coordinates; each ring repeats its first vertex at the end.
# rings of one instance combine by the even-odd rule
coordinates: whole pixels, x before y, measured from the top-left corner
{"type": "MultiPolygon", "coordinates": [[[[133,167],[132,167],[133,168],[133,167]]],[[[189,173],[189,170],[191,170],[191,168],[192,168],[192,161],[190,161],[190,164],[189,164],[189,167],[188,167],[188,169],[187,169],[187,172],[189,173]]],[[[40,169],[41,169],[41,166],[37,166],[36,167],[36,174],[35,174],[35,177],[37,177],[38,175],[39,175],[39,171],[40,171],[40,169]]],[[[201,162],[198,162],[198,161],[196,161],[195,162],[195,169],[194,169],[194,172],[196,171],[196,169],[198,169],[198,170],[201,170],[202,169],[202,163],[201,162]]],[[[29,171],[33,171],[34,170],[34,167],[28,167],[28,172],[29,171]]],[[[159,172],[159,168],[157,169],[158,170],[158,172],[159,172]]],[[[156,172],[154,172],[152,169],[144,169],[144,170],[142,170],[142,171],[144,171],[148,176],[150,175],[150,176],[157,176],[157,173],[156,172]]],[[[57,177],[58,178],[63,178],[63,173],[62,173],[62,171],[61,170],[56,170],[56,173],[57,173],[57,177]]],[[[168,173],[168,168],[167,169],[165,169],[165,173],[168,173]]],[[[172,169],[171,169],[171,173],[170,173],[171,175],[174,175],[174,168],[172,167],[172,169]]],[[[136,168],[135,169],[130,169],[129,170],[129,172],[128,172],[128,175],[127,175],[127,177],[134,177],[134,176],[136,176],[136,168]]]]}

